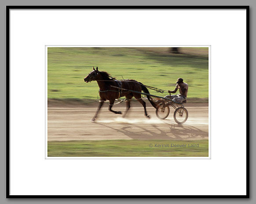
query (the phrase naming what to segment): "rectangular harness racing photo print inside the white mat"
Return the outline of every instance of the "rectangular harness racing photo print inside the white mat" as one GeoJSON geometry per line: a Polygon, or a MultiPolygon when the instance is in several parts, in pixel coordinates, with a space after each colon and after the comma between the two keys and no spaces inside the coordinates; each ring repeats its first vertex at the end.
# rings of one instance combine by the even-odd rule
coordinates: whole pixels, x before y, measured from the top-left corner
{"type": "Polygon", "coordinates": [[[46,53],[48,158],[210,158],[210,46],[46,53]]]}

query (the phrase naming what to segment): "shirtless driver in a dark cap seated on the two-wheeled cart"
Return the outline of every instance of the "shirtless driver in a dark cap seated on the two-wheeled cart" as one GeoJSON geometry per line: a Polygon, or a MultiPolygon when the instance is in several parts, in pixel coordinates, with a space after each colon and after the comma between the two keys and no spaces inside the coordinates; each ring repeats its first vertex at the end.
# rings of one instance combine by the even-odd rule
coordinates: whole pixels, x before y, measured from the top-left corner
{"type": "Polygon", "coordinates": [[[179,94],[178,95],[166,95],[165,98],[170,98],[174,102],[182,103],[183,101],[187,100],[187,90],[188,85],[183,82],[182,78],[178,78],[176,82],[176,87],[173,91],[168,91],[168,93],[176,93],[176,91],[179,88],[179,94]]]}

